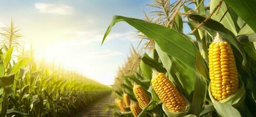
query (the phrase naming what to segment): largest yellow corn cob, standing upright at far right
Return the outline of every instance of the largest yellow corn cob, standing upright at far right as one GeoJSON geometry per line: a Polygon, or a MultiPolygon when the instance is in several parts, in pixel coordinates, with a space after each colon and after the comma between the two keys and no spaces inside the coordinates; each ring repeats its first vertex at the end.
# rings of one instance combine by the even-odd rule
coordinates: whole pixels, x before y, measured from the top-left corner
{"type": "Polygon", "coordinates": [[[230,44],[218,34],[208,50],[212,96],[221,101],[234,94],[239,87],[235,57],[230,44]]]}

